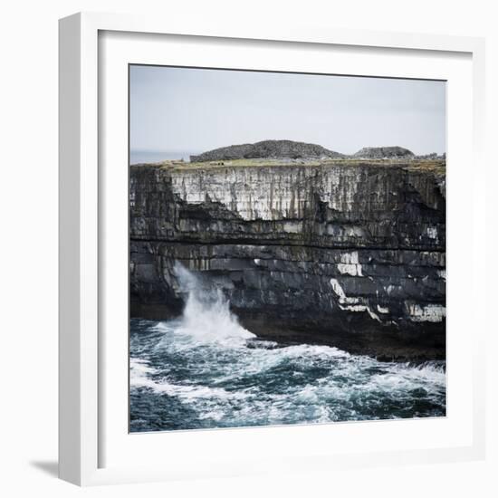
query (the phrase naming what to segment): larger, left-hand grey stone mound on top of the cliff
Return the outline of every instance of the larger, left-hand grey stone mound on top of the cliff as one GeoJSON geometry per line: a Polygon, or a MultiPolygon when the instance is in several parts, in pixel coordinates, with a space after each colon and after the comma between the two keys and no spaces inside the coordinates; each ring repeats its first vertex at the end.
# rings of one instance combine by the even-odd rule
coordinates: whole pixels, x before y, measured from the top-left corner
{"type": "Polygon", "coordinates": [[[342,158],[343,154],[321,145],[292,140],[263,140],[254,144],[232,145],[190,156],[191,162],[223,161],[252,158],[342,158]]]}

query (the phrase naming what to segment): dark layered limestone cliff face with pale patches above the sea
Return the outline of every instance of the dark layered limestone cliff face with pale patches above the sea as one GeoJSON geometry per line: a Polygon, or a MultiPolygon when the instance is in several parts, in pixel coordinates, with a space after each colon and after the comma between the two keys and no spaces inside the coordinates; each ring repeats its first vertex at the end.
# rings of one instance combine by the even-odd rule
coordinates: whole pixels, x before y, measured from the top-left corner
{"type": "Polygon", "coordinates": [[[424,162],[132,167],[132,315],[181,311],[178,261],[265,337],[444,358],[444,187],[424,162]]]}

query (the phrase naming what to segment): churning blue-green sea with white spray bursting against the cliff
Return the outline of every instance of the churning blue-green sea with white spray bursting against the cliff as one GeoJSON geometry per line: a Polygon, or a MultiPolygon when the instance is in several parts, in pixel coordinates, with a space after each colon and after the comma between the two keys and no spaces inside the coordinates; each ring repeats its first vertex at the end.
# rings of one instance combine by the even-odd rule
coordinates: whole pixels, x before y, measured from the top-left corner
{"type": "Polygon", "coordinates": [[[130,322],[130,431],[445,416],[445,362],[258,339],[182,270],[183,315],[130,322]]]}

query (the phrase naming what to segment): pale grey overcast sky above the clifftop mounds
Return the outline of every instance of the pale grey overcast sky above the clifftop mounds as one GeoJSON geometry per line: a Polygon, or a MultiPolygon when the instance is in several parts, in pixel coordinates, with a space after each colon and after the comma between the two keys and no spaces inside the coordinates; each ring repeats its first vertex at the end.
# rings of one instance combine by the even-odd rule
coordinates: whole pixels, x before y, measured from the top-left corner
{"type": "Polygon", "coordinates": [[[445,82],[130,68],[130,148],[201,152],[264,139],[350,154],[445,152],[445,82]]]}

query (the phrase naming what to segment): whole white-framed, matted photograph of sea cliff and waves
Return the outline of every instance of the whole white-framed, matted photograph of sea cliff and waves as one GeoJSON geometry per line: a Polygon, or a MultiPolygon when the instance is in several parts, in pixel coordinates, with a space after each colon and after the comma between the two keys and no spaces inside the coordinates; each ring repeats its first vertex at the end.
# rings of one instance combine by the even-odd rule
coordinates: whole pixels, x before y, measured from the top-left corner
{"type": "Polygon", "coordinates": [[[483,110],[480,39],[62,19],[61,478],[482,457],[483,110]]]}

